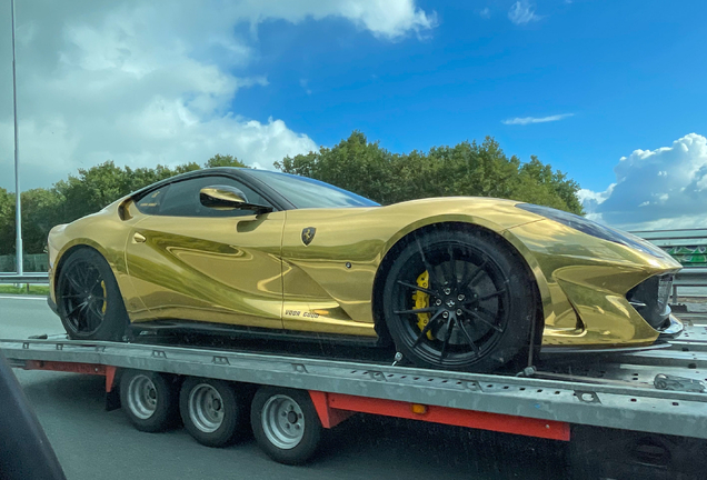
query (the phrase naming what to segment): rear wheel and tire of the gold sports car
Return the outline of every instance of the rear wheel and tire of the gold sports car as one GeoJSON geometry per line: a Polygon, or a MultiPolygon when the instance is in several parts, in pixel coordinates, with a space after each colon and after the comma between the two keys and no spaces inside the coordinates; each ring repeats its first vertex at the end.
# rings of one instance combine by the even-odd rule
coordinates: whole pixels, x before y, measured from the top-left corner
{"type": "Polygon", "coordinates": [[[70,339],[120,341],[130,324],[110,266],[91,248],[69,253],[57,279],[56,298],[70,339]]]}

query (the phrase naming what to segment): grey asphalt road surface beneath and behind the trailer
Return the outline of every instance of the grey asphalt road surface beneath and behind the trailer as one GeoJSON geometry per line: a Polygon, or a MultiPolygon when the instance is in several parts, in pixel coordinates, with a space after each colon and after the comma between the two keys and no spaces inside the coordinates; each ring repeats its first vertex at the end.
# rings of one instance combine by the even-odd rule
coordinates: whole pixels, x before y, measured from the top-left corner
{"type": "MultiPolygon", "coordinates": [[[[0,338],[62,331],[44,299],[0,296],[0,338]]],[[[139,432],[120,410],[103,410],[102,378],[16,374],[69,479],[567,478],[564,443],[370,416],[328,431],[310,464],[286,467],[269,460],[252,440],[212,449],[181,429],[139,432]]]]}

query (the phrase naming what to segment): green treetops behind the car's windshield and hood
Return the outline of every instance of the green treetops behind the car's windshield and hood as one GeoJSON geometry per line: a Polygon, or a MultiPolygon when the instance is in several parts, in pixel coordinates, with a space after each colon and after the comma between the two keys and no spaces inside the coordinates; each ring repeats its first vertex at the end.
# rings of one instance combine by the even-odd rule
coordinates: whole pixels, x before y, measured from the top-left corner
{"type": "Polygon", "coordinates": [[[384,204],[428,197],[507,198],[581,213],[579,186],[531,157],[508,158],[492,138],[428,152],[390,153],[354,131],[331,149],[287,157],[275,163],[288,173],[332,183],[384,204]]]}

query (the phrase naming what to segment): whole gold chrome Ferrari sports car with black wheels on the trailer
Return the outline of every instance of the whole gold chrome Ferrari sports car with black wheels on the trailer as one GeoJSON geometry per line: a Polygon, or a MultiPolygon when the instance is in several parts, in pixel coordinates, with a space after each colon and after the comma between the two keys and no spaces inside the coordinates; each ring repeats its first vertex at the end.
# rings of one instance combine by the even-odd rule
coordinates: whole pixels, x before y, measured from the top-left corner
{"type": "Polygon", "coordinates": [[[529,348],[641,348],[681,331],[680,264],[641,239],[490,198],[380,207],[286,173],[218,168],[49,234],[50,303],[74,339],[135,330],[394,342],[490,371],[529,348]]]}

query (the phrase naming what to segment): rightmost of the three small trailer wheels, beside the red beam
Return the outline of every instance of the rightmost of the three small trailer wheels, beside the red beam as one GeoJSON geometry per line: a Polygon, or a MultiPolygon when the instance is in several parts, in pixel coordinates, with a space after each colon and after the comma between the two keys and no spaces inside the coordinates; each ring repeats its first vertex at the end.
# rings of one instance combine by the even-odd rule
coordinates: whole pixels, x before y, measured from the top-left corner
{"type": "Polygon", "coordinates": [[[260,448],[280,463],[305,463],[321,439],[317,410],[301,390],[261,387],[252,400],[250,423],[260,448]]]}

